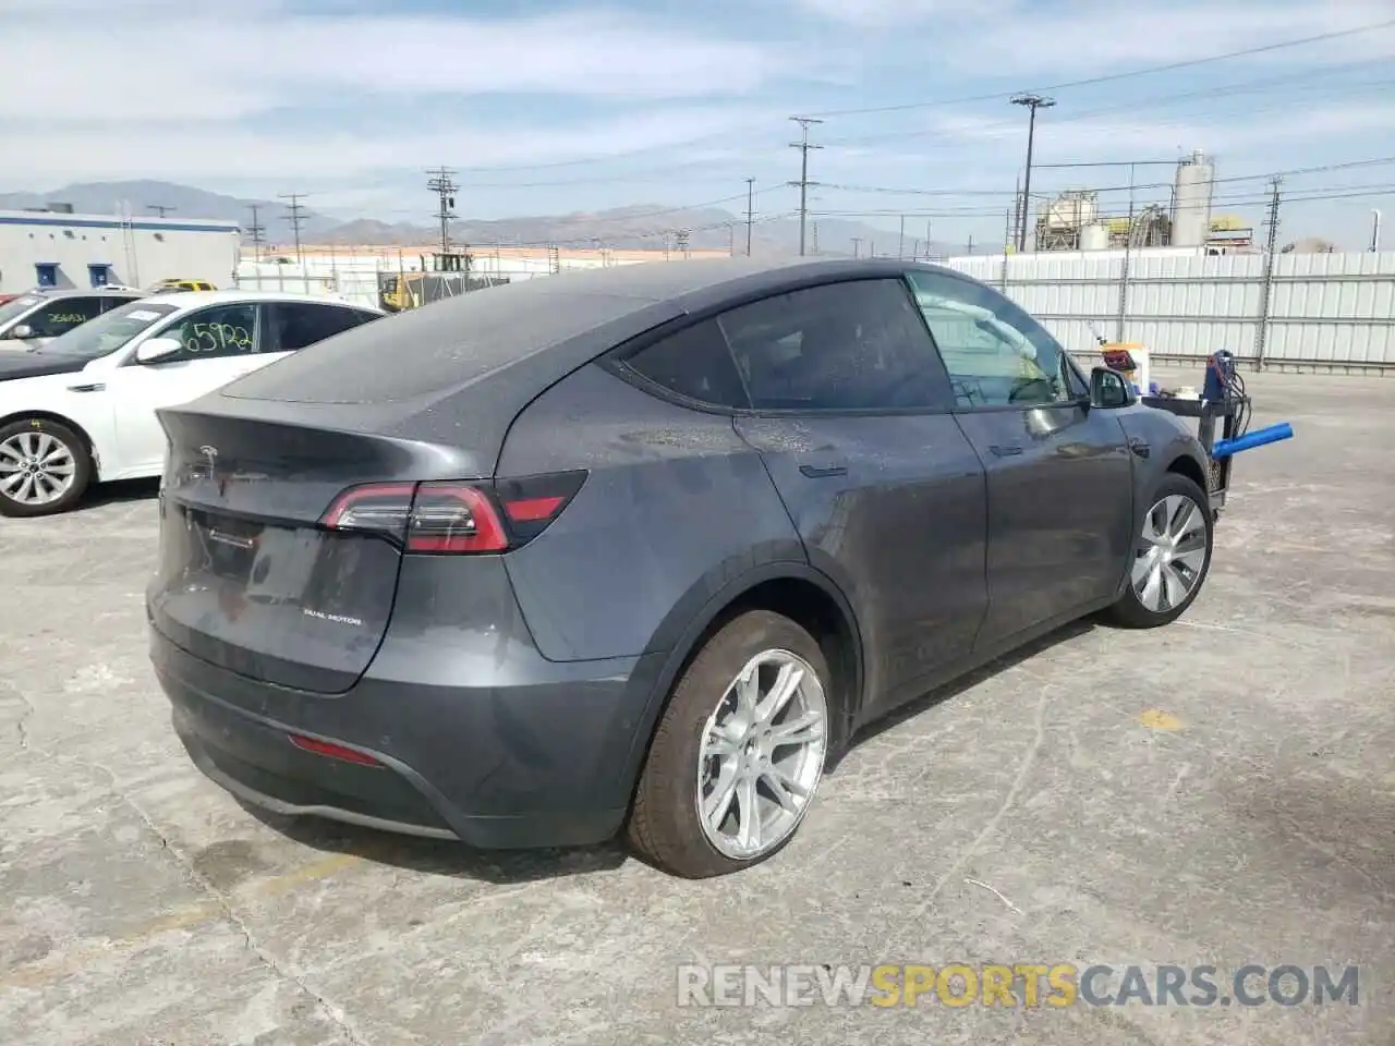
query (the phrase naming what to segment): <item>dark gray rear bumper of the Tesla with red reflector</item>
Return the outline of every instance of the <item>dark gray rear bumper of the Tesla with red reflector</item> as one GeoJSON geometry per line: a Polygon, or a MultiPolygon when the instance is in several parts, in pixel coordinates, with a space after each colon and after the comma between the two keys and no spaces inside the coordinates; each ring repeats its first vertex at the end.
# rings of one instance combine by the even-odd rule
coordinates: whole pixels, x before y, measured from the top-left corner
{"type": "MultiPolygon", "coordinates": [[[[480,848],[601,842],[625,819],[626,756],[657,672],[654,655],[548,662],[523,649],[487,679],[403,678],[384,665],[347,693],[306,693],[202,661],[151,628],[151,660],[195,766],[246,802],[480,848]],[[386,678],[395,675],[398,678],[386,678]],[[290,735],[371,756],[363,766],[290,735]]],[[[477,668],[477,662],[466,665],[477,668]]]]}

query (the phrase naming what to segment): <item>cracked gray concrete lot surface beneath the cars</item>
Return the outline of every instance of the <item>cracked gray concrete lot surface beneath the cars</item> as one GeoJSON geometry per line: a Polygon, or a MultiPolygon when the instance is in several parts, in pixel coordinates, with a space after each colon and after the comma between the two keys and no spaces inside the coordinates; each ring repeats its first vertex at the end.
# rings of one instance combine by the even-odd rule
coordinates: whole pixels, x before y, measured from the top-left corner
{"type": "Polygon", "coordinates": [[[146,664],[152,490],[0,520],[0,1042],[1395,1043],[1395,381],[1250,391],[1297,435],[1236,460],[1180,623],[1067,629],[922,702],[783,855],[706,883],[254,816],[191,768],[146,664]],[[1356,964],[1359,1003],[675,987],[685,962],[957,961],[1209,964],[1222,989],[1356,964]]]}

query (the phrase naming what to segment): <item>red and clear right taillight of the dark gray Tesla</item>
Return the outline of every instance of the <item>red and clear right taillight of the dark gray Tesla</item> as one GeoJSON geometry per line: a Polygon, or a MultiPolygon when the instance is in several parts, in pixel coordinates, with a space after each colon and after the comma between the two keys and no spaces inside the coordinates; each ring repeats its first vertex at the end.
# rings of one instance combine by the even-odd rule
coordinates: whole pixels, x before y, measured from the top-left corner
{"type": "Polygon", "coordinates": [[[368,483],[335,498],[319,523],[381,534],[409,552],[506,552],[541,534],[585,481],[575,471],[494,484],[368,483]]]}

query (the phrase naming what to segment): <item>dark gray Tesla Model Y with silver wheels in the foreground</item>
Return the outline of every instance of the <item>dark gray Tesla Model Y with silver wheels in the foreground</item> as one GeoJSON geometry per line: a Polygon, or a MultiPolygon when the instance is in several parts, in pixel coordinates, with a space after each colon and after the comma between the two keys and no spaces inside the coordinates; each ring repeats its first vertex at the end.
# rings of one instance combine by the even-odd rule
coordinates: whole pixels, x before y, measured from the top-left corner
{"type": "Polygon", "coordinates": [[[243,801],[477,847],[783,847],[864,724],[1073,618],[1163,625],[1208,462],[1021,308],[886,259],[632,265],[160,411],[152,657],[243,801]]]}

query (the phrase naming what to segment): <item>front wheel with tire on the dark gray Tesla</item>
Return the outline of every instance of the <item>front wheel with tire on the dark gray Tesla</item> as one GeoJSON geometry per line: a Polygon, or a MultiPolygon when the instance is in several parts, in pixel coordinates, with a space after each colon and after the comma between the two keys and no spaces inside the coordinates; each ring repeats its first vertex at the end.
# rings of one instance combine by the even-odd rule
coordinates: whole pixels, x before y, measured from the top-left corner
{"type": "MultiPolygon", "coordinates": [[[[1179,517],[1173,515],[1168,522],[1169,526],[1176,524],[1179,517]]],[[[1186,614],[1187,607],[1190,607],[1197,598],[1197,594],[1207,582],[1207,575],[1211,572],[1214,529],[1215,519],[1208,508],[1208,499],[1201,487],[1198,487],[1194,480],[1189,480],[1186,476],[1168,473],[1162,478],[1162,483],[1154,488],[1152,497],[1148,498],[1148,508],[1140,515],[1138,522],[1134,524],[1134,555],[1129,562],[1129,582],[1124,586],[1124,593],[1119,597],[1119,601],[1106,611],[1109,619],[1124,628],[1149,629],[1159,628],[1161,625],[1170,625],[1173,621],[1186,614]],[[1202,552],[1202,559],[1194,570],[1182,569],[1183,566],[1194,563],[1194,559],[1187,554],[1173,551],[1169,555],[1166,545],[1161,545],[1163,548],[1161,554],[1149,551],[1159,547],[1148,537],[1149,530],[1154,533],[1156,531],[1156,513],[1166,512],[1163,506],[1168,505],[1169,501],[1172,505],[1180,508],[1184,503],[1180,499],[1186,499],[1191,503],[1194,517],[1194,522],[1187,524],[1187,529],[1180,534],[1180,537],[1187,538],[1196,536],[1196,523],[1200,523],[1201,529],[1205,531],[1204,545],[1196,549],[1202,552]],[[1149,527],[1149,523],[1154,523],[1154,526],[1149,527]],[[1140,563],[1140,561],[1147,555],[1161,556],[1163,562],[1158,568],[1147,570],[1147,568],[1143,568],[1140,563]],[[1166,586],[1162,586],[1162,590],[1169,596],[1169,598],[1166,598],[1166,601],[1159,600],[1159,605],[1152,605],[1154,600],[1149,598],[1156,589],[1145,587],[1140,591],[1140,579],[1144,582],[1149,580],[1147,577],[1148,573],[1156,573],[1156,582],[1159,586],[1162,586],[1166,580],[1166,586]],[[1189,573],[1191,575],[1190,587],[1186,589],[1182,598],[1172,598],[1176,596],[1176,589],[1172,586],[1175,586],[1177,579],[1186,582],[1189,573]]],[[[1190,548],[1191,544],[1193,543],[1189,541],[1177,543],[1180,548],[1190,548]]]]}

